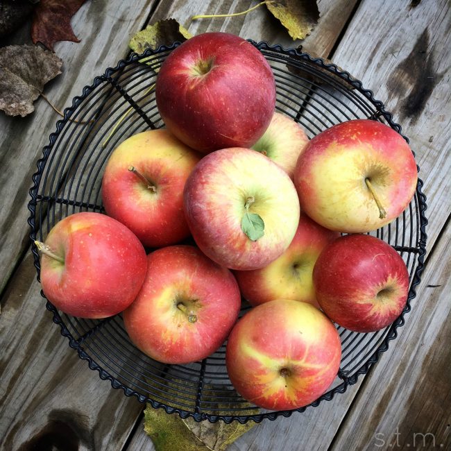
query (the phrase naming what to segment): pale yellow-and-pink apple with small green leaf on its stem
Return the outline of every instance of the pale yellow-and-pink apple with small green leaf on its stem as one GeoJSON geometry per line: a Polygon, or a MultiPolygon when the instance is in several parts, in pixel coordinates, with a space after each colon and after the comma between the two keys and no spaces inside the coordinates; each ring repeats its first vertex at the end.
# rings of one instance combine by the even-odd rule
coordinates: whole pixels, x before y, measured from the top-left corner
{"type": "Polygon", "coordinates": [[[248,148],[206,155],[184,190],[189,230],[203,253],[229,269],[266,266],[287,250],[299,222],[291,179],[248,148]]]}

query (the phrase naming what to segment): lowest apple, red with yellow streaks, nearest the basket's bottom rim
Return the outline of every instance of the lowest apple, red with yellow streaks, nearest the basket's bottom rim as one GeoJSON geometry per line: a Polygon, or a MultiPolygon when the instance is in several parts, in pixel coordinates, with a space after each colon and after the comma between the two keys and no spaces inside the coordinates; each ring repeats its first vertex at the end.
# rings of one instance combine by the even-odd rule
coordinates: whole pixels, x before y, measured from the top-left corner
{"type": "Polygon", "coordinates": [[[226,348],[237,392],[271,410],[309,405],[332,384],[340,361],[340,337],[332,322],[296,300],[271,300],[250,309],[233,327],[226,348]]]}

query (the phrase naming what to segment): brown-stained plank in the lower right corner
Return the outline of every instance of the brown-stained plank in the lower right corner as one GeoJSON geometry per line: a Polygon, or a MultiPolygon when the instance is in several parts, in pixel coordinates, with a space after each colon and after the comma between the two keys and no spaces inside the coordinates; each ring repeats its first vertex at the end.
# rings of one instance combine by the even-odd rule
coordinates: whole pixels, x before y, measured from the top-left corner
{"type": "Polygon", "coordinates": [[[448,225],[405,330],[366,377],[332,450],[450,449],[450,246],[448,225]]]}

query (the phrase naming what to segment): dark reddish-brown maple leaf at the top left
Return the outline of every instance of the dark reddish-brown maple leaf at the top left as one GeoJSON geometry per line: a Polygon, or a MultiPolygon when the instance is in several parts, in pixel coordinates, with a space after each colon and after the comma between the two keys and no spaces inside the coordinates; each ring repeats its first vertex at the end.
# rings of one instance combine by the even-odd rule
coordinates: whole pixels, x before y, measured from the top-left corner
{"type": "Polygon", "coordinates": [[[80,42],[71,27],[71,17],[86,0],[41,0],[37,3],[31,26],[33,43],[41,42],[53,50],[58,41],[80,42]]]}

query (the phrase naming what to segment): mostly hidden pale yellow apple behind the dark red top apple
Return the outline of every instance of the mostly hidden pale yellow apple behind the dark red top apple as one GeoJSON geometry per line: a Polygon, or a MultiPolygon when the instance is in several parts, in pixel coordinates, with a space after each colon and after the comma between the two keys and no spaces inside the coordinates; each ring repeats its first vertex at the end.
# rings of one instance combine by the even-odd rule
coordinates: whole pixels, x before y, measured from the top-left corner
{"type": "Polygon", "coordinates": [[[293,180],[296,162],[307,142],[309,138],[297,122],[275,112],[266,132],[252,148],[271,158],[293,180]]]}

